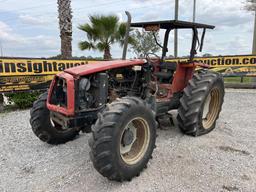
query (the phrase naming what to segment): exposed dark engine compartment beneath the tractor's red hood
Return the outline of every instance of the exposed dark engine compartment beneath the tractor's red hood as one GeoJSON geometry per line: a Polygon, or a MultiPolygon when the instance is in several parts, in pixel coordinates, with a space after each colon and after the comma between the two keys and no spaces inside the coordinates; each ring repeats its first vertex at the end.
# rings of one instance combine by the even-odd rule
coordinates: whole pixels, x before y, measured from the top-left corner
{"type": "Polygon", "coordinates": [[[137,66],[139,68],[129,66],[80,77],[76,111],[98,108],[127,95],[141,96],[145,78],[142,67],[137,66]]]}

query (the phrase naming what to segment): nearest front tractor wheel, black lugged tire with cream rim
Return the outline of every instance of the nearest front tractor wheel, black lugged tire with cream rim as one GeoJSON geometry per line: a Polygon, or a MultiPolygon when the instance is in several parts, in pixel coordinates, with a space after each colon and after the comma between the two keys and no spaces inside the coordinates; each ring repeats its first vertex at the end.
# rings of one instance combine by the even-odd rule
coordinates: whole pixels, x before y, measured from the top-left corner
{"type": "Polygon", "coordinates": [[[147,166],[156,140],[155,113],[136,97],[114,101],[99,114],[89,140],[96,170],[116,181],[129,181],[147,166]]]}

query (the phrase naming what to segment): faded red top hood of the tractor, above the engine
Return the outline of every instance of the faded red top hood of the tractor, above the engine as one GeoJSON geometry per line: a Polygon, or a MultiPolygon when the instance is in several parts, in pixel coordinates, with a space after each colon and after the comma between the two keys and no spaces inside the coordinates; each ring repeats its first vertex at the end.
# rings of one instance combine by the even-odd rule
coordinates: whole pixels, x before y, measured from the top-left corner
{"type": "Polygon", "coordinates": [[[113,68],[143,65],[144,63],[146,63],[146,61],[143,59],[100,61],[98,63],[80,65],[77,67],[66,69],[65,72],[73,76],[79,77],[113,68]]]}

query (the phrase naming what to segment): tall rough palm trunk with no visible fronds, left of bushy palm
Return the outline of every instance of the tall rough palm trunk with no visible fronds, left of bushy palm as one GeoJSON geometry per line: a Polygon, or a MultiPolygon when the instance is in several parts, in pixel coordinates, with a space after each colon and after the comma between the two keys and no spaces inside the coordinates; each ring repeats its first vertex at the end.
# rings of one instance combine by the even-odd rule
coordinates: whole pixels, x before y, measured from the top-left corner
{"type": "Polygon", "coordinates": [[[71,0],[58,0],[61,58],[72,57],[72,12],[71,0]]]}

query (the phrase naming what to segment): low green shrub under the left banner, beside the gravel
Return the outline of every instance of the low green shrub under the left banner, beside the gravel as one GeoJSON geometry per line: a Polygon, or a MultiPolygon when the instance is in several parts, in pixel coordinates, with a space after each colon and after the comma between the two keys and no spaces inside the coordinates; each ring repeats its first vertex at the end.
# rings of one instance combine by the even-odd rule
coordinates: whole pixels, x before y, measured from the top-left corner
{"type": "Polygon", "coordinates": [[[25,109],[32,107],[33,102],[41,93],[40,91],[7,93],[5,96],[8,98],[9,103],[14,103],[20,109],[25,109]]]}

